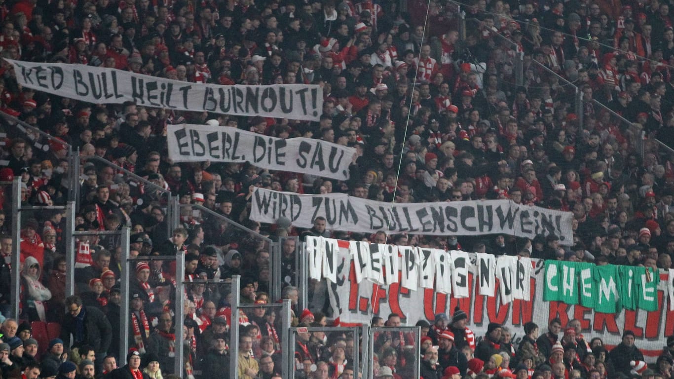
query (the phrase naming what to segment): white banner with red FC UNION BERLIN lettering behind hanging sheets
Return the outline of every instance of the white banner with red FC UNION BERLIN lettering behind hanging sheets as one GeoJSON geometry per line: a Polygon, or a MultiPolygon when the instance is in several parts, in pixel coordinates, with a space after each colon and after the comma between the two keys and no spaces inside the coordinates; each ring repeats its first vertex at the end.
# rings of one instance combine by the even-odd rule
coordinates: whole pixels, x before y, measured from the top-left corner
{"type": "MultiPolygon", "coordinates": [[[[346,259],[346,264],[340,266],[337,273],[337,285],[328,285],[332,312],[335,318],[339,316],[343,325],[369,324],[371,316],[386,318],[392,313],[401,316],[403,326],[413,326],[419,320],[429,320],[432,323],[435,314],[445,313],[451,316],[454,314],[454,308],[458,306],[468,314],[468,327],[473,330],[478,341],[487,332],[489,322],[498,322],[510,328],[513,334],[512,341],[517,345],[524,336],[526,322],[535,322],[541,328],[541,333],[545,333],[548,322],[555,317],[561,319],[563,326],[576,318],[580,320],[582,332],[586,338],[601,336],[609,349],[621,342],[623,330],[633,330],[636,334],[635,344],[644,353],[648,362],[654,362],[658,355],[661,355],[667,336],[674,334],[674,312],[669,310],[669,305],[667,305],[667,302],[673,301],[667,296],[671,281],[668,280],[669,274],[664,270],[661,271],[661,281],[658,286],[657,311],[621,310],[617,313],[601,313],[594,312],[592,308],[586,308],[580,304],[569,305],[561,301],[543,301],[544,262],[537,259],[523,260],[520,258],[518,260],[514,258],[518,265],[531,265],[530,274],[524,273],[524,278],[522,274],[519,274],[519,277],[518,274],[514,275],[515,282],[520,278],[529,282],[530,288],[524,291],[530,290],[530,293],[526,294],[528,295],[526,299],[513,296],[509,303],[503,303],[500,299],[500,281],[496,281],[495,287],[497,288],[494,296],[481,295],[489,291],[487,288],[481,288],[480,283],[483,283],[485,287],[489,287],[489,284],[488,281],[479,280],[477,274],[479,265],[476,264],[476,254],[473,253],[469,253],[469,274],[466,281],[469,296],[465,298],[456,298],[453,295],[441,293],[432,286],[413,290],[409,286],[404,286],[404,282],[377,285],[372,281],[362,281],[359,285],[353,285],[359,270],[355,265],[350,264],[350,243],[353,245],[353,241],[338,241],[339,260],[341,262],[342,258],[346,259]],[[374,291],[377,291],[377,295],[373,295],[374,291]]],[[[361,243],[367,245],[367,242],[359,242],[361,243]]],[[[406,280],[404,269],[406,264],[410,266],[416,264],[406,262],[405,257],[413,256],[413,254],[405,254],[405,252],[414,250],[413,247],[398,246],[398,251],[401,253],[400,267],[403,281],[406,280]]],[[[485,261],[484,258],[483,256],[483,261],[485,261]]],[[[495,266],[508,266],[506,262],[512,261],[512,258],[501,256],[494,260],[500,264],[492,266],[490,262],[483,263],[482,274],[495,278],[495,266]]],[[[513,268],[513,270],[518,269],[513,268]]],[[[513,285],[517,287],[516,283],[513,285]]]]}

